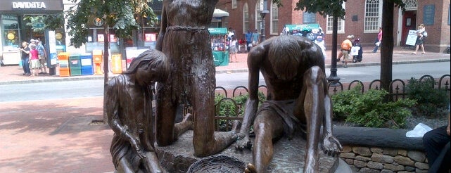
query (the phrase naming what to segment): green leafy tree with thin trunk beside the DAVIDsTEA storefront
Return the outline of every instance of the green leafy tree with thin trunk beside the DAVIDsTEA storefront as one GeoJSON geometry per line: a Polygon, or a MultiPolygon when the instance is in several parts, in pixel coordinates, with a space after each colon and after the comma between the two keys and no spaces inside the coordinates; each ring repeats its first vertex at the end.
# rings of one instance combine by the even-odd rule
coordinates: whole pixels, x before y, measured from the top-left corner
{"type": "MultiPolygon", "coordinates": [[[[152,8],[148,6],[151,0],[71,0],[78,2],[66,11],[68,18],[68,34],[70,45],[80,47],[88,40],[89,21],[94,18],[103,20],[104,37],[109,38],[109,30],[115,31],[118,38],[131,38],[133,30],[139,29],[137,19],[146,16],[151,21],[157,20],[152,8]]],[[[104,82],[108,82],[108,48],[109,41],[104,41],[103,60],[105,71],[104,82]]]]}

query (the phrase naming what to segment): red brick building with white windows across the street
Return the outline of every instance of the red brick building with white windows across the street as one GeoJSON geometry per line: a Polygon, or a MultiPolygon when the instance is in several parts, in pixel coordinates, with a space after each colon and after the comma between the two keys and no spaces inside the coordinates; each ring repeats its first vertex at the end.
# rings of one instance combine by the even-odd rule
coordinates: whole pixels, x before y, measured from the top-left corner
{"type": "MultiPolygon", "coordinates": [[[[450,46],[450,0],[404,0],[406,11],[402,13],[395,8],[394,44],[406,46],[409,30],[417,30],[417,25],[424,23],[428,37],[425,41],[426,51],[443,52],[450,46]]],[[[326,32],[326,45],[331,47],[332,18],[319,14],[294,11],[295,1],[282,1],[283,6],[277,8],[271,1],[265,4],[266,38],[279,35],[288,24],[319,23],[326,32]]],[[[338,20],[338,43],[348,34],[360,38],[362,44],[372,45],[382,23],[383,0],[357,0],[343,3],[345,20],[338,20]]],[[[222,27],[232,27],[236,30],[238,39],[244,37],[247,30],[260,31],[260,1],[259,0],[220,0],[217,8],[229,12],[229,17],[222,20],[222,27]]],[[[412,37],[411,37],[412,38],[412,37]]],[[[411,41],[411,40],[409,40],[411,41]]]]}

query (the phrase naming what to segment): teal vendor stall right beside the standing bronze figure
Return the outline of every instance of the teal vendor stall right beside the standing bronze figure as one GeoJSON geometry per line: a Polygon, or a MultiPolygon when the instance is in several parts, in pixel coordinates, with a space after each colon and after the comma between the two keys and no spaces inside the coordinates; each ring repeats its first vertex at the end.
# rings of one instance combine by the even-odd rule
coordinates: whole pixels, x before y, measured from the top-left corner
{"type": "Polygon", "coordinates": [[[227,28],[208,28],[211,39],[211,49],[215,66],[229,65],[229,51],[227,46],[227,28]]]}

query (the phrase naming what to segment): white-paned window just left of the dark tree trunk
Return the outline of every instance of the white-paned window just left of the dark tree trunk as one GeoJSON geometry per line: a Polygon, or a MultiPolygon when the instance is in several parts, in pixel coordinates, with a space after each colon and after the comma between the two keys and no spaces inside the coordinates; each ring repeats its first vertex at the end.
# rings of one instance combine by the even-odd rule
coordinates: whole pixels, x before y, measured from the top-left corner
{"type": "Polygon", "coordinates": [[[382,23],[382,3],[380,0],[365,0],[364,33],[377,33],[382,23]]]}

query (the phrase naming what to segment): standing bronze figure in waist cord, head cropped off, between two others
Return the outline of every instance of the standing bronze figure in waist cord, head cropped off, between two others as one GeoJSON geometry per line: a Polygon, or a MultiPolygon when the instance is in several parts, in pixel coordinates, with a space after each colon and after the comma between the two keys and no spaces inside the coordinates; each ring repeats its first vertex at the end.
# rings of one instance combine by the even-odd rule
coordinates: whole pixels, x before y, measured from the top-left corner
{"type": "MultiPolygon", "coordinates": [[[[193,108],[194,155],[220,152],[236,141],[236,132],[215,135],[215,65],[208,26],[217,0],[164,0],[156,49],[170,60],[171,71],[157,87],[156,141],[167,146],[186,128],[174,125],[177,107],[193,108]]],[[[238,124],[235,124],[238,128],[238,124]]]]}

